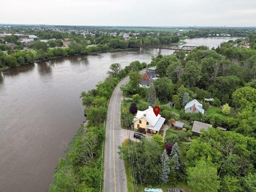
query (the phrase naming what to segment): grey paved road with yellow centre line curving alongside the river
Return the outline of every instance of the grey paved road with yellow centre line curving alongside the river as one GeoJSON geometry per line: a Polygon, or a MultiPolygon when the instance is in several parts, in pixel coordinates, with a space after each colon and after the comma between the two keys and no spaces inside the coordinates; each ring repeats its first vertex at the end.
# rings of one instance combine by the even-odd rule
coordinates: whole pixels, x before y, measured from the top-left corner
{"type": "Polygon", "coordinates": [[[129,78],[125,77],[116,86],[109,102],[106,117],[105,154],[104,154],[104,192],[127,192],[127,179],[124,161],[119,159],[118,146],[127,136],[121,130],[120,107],[122,91],[120,86],[129,78]]]}

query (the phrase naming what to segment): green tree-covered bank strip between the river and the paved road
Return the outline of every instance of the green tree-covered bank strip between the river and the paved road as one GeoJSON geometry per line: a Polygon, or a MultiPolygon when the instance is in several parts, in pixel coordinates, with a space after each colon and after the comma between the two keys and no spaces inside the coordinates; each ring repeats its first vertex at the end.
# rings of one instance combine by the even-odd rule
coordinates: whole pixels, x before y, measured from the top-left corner
{"type": "MultiPolygon", "coordinates": [[[[137,64],[139,70],[145,68],[144,63],[137,64]]],[[[94,91],[81,93],[80,97],[86,108],[84,114],[87,115],[88,123],[80,128],[82,133],[78,131],[78,134],[73,137],[66,158],[59,159],[54,182],[49,188],[50,192],[62,189],[68,189],[68,191],[80,188],[102,189],[102,148],[105,127],[108,126],[105,120],[108,115],[109,100],[118,82],[131,70],[122,69],[117,76],[107,77],[103,82],[99,82],[94,91]]]]}

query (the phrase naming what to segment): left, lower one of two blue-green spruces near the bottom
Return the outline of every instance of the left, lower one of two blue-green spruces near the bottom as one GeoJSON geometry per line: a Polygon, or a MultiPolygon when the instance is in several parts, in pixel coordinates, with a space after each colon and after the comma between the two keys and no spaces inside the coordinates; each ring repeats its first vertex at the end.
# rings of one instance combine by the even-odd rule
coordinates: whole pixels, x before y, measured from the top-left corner
{"type": "Polygon", "coordinates": [[[161,164],[162,164],[162,172],[159,175],[159,178],[163,183],[168,183],[168,175],[170,173],[170,168],[169,168],[169,156],[166,153],[166,150],[163,151],[163,154],[161,156],[161,164]]]}

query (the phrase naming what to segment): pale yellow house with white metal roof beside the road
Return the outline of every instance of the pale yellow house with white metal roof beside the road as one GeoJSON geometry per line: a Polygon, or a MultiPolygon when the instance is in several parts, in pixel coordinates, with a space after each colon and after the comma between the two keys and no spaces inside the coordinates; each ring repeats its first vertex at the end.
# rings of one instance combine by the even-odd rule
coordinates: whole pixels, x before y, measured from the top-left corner
{"type": "Polygon", "coordinates": [[[155,115],[152,106],[148,106],[148,109],[145,111],[137,112],[135,118],[133,119],[134,128],[136,129],[144,129],[148,134],[159,134],[161,130],[165,118],[155,115]]]}

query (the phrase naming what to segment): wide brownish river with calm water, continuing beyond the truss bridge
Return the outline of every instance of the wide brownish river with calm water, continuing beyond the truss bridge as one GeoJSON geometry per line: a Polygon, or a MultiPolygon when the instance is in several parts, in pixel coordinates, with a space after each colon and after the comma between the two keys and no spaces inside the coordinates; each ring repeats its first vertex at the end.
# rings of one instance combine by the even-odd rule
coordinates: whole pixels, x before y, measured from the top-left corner
{"type": "MultiPolygon", "coordinates": [[[[186,45],[211,48],[229,39],[186,39],[186,45]]],[[[106,52],[0,72],[0,191],[47,191],[58,159],[83,121],[80,92],[103,80],[111,63],[148,63],[156,55],[156,49],[106,52]]]]}

